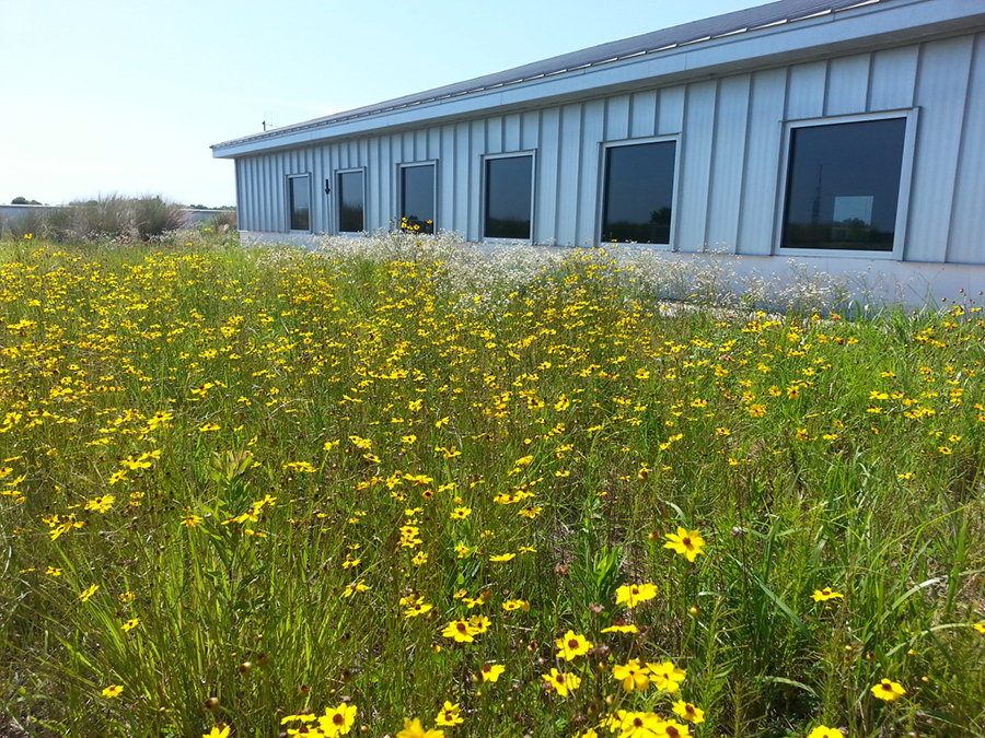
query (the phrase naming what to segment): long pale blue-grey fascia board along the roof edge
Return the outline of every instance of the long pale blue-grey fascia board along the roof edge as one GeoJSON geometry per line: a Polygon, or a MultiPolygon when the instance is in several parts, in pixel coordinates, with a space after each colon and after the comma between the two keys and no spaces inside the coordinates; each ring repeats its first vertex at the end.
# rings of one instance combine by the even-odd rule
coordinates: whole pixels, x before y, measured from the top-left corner
{"type": "Polygon", "coordinates": [[[587,93],[618,94],[623,90],[638,89],[640,82],[664,86],[722,72],[738,73],[981,30],[985,30],[985,3],[982,0],[877,2],[547,74],[495,90],[463,93],[259,139],[219,143],[212,147],[212,156],[235,159],[387,129],[436,125],[484,113],[543,107],[581,98],[587,93]]]}

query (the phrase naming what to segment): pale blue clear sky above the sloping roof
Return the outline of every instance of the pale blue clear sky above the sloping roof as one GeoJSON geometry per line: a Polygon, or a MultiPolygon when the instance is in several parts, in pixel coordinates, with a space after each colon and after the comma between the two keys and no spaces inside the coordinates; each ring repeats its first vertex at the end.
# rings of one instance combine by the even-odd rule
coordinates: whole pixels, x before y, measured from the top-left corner
{"type": "Polygon", "coordinates": [[[0,0],[0,203],[235,204],[209,147],[761,0],[0,0]]]}

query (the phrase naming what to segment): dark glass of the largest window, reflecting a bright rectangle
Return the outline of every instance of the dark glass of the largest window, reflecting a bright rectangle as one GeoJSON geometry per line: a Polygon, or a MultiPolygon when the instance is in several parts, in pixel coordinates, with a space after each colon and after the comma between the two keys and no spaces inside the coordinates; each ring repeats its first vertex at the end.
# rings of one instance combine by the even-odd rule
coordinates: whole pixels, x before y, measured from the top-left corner
{"type": "Polygon", "coordinates": [[[784,248],[893,250],[905,118],[790,131],[784,248]]]}

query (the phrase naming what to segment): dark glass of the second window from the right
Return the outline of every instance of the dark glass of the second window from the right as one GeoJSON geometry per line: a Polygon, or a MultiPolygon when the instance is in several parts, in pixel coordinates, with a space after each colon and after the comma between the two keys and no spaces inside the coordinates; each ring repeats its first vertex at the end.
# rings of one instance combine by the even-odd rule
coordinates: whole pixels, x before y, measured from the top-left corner
{"type": "Polygon", "coordinates": [[[670,243],[676,151],[674,141],[607,150],[602,241],[670,243]]]}

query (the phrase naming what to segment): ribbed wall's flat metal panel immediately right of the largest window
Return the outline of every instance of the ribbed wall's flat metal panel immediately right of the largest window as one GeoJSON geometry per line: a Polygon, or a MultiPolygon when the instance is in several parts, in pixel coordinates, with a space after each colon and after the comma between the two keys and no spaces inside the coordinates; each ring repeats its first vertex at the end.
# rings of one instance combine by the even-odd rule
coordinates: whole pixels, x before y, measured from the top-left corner
{"type": "Polygon", "coordinates": [[[920,116],[903,255],[911,261],[943,261],[947,255],[973,40],[962,36],[920,49],[915,99],[920,116]]]}

